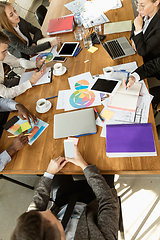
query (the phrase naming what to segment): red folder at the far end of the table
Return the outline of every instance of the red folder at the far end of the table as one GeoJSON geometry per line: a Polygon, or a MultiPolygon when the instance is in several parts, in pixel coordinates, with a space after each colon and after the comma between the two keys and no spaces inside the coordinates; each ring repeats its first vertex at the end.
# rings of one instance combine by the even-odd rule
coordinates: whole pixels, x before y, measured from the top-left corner
{"type": "Polygon", "coordinates": [[[48,35],[72,32],[74,28],[74,16],[64,16],[61,18],[50,19],[47,29],[48,35]]]}

